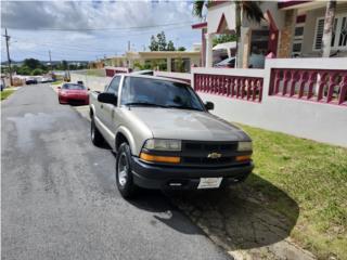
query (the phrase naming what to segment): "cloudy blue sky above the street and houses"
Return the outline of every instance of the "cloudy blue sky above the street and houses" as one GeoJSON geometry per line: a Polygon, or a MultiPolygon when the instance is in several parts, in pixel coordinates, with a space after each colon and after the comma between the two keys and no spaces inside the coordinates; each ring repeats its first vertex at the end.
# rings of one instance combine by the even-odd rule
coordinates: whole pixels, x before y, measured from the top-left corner
{"type": "MultiPolygon", "coordinates": [[[[8,28],[11,60],[93,61],[131,50],[149,51],[164,30],[176,47],[191,50],[201,31],[191,25],[191,1],[2,1],[1,35],[8,28]]],[[[1,37],[1,61],[7,61],[1,37]]]]}

